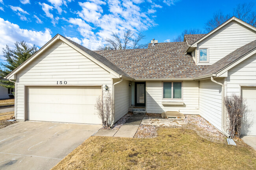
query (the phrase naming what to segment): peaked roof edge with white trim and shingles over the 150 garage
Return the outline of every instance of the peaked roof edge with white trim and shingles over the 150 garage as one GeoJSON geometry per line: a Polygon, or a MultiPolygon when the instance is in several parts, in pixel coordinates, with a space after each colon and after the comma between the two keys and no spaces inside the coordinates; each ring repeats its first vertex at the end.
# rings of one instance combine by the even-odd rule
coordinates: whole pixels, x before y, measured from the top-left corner
{"type": "Polygon", "coordinates": [[[13,70],[9,75],[6,76],[7,79],[16,79],[15,74],[19,72],[22,68],[27,66],[30,62],[32,62],[35,58],[37,58],[39,55],[41,55],[46,49],[48,49],[50,46],[52,46],[56,41],[62,40],[63,42],[67,43],[72,48],[76,49],[78,52],[85,55],[87,58],[91,59],[96,64],[100,65],[102,68],[105,68],[109,72],[113,73],[117,77],[125,76],[130,78],[126,73],[124,73],[121,69],[119,69],[117,66],[115,66],[113,63],[111,63],[106,58],[94,53],[93,51],[69,40],[68,38],[65,38],[59,34],[57,34],[54,38],[52,38],[49,42],[47,42],[42,48],[40,48],[32,57],[30,57],[28,60],[26,60],[23,64],[21,64],[18,68],[13,70]]]}

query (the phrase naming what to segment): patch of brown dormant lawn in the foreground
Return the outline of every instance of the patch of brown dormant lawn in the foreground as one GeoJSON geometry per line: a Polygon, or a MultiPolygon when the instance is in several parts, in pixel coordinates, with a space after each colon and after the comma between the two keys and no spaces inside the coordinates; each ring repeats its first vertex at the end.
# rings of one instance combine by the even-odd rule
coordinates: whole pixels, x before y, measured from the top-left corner
{"type": "Polygon", "coordinates": [[[255,151],[214,143],[194,130],[159,128],[150,139],[90,137],[52,170],[256,169],[255,151]]]}

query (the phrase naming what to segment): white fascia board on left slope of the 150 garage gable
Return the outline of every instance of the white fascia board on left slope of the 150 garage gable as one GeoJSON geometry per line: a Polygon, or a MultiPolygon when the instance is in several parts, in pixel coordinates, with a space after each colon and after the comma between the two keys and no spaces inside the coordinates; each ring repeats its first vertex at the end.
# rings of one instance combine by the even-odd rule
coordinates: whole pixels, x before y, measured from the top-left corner
{"type": "Polygon", "coordinates": [[[19,67],[17,67],[16,69],[14,69],[11,73],[9,73],[6,76],[6,79],[11,79],[11,80],[15,80],[13,79],[13,75],[15,75],[17,72],[19,72],[22,68],[24,68],[28,63],[32,62],[37,56],[39,56],[41,53],[43,53],[47,48],[49,48],[54,42],[56,42],[57,40],[59,40],[59,35],[56,35],[54,38],[52,38],[50,41],[48,41],[42,48],[40,48],[35,54],[32,55],[32,57],[30,57],[28,60],[26,60],[24,63],[22,63],[19,67]]]}

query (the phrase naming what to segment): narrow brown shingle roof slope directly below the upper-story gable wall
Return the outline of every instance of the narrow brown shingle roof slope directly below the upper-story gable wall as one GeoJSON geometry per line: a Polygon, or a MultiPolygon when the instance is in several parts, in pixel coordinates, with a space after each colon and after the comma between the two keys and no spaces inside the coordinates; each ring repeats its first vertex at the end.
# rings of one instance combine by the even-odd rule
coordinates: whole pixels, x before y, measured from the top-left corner
{"type": "Polygon", "coordinates": [[[204,75],[209,75],[213,73],[217,73],[217,71],[220,71],[224,67],[232,64],[239,58],[243,57],[250,51],[256,49],[256,40],[236,49],[232,53],[226,55],[226,57],[221,58],[219,61],[215,62],[214,64],[208,66],[204,71],[199,73],[196,77],[204,76],[204,75]]]}

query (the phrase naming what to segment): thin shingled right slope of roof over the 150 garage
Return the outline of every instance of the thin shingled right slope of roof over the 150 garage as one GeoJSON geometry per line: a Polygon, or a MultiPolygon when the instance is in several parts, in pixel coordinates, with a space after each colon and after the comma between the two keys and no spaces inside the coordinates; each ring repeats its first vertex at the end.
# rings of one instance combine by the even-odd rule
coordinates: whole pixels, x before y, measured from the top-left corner
{"type": "MultiPolygon", "coordinates": [[[[60,35],[61,37],[63,37],[62,35],[60,35]]],[[[99,62],[101,62],[102,64],[104,64],[105,66],[107,66],[108,68],[110,68],[111,70],[115,71],[116,73],[118,73],[119,75],[123,75],[126,77],[130,77],[129,75],[127,75],[126,73],[124,73],[124,71],[122,71],[120,68],[118,68],[117,66],[115,66],[115,64],[113,64],[112,62],[110,62],[108,59],[106,59],[105,57],[102,57],[101,55],[81,46],[80,44],[77,44],[76,42],[66,38],[67,41],[71,42],[72,44],[74,44],[74,46],[78,47],[79,49],[81,49],[82,51],[84,51],[85,53],[89,54],[91,57],[95,58],[96,60],[98,60],[99,62]]]]}

